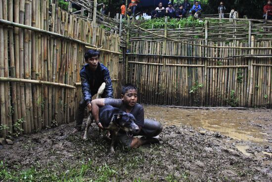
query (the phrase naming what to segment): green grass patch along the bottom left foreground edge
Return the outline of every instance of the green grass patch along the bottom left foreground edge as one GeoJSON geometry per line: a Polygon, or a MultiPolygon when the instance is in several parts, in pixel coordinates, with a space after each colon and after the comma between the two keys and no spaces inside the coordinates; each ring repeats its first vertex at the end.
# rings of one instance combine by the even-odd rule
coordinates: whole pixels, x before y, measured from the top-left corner
{"type": "MultiPolygon", "coordinates": [[[[52,165],[54,166],[54,165],[52,165]]],[[[94,167],[92,161],[82,162],[75,166],[65,166],[66,169],[59,172],[49,165],[45,169],[40,169],[39,164],[25,170],[8,170],[0,162],[0,179],[14,182],[106,182],[117,173],[106,164],[94,167]],[[94,178],[87,178],[88,175],[95,174],[94,178]]],[[[17,166],[17,169],[20,167],[17,166]]]]}

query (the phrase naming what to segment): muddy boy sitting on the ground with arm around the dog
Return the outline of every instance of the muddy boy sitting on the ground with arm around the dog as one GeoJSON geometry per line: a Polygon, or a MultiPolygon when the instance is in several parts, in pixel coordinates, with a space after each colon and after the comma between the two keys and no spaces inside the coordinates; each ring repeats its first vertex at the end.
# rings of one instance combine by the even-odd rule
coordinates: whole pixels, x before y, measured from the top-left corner
{"type": "Polygon", "coordinates": [[[91,101],[92,116],[100,128],[99,107],[111,105],[119,108],[126,113],[131,113],[139,126],[139,131],[134,136],[144,136],[142,138],[129,137],[126,132],[121,130],[118,133],[117,141],[128,148],[137,148],[146,143],[158,143],[157,136],[162,131],[162,125],[158,121],[144,119],[143,107],[137,103],[137,88],[132,84],[126,84],[122,89],[122,99],[95,99],[91,101]]]}

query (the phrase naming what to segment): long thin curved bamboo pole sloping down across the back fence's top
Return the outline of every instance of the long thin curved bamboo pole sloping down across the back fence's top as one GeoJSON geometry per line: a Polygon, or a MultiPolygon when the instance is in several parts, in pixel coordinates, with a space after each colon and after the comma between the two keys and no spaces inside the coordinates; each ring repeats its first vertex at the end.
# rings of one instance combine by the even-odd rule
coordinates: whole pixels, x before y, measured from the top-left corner
{"type": "Polygon", "coordinates": [[[168,39],[168,40],[171,40],[171,41],[174,41],[174,42],[178,42],[178,43],[181,43],[181,44],[187,44],[187,45],[191,45],[191,46],[199,46],[199,47],[203,47],[203,48],[222,48],[222,49],[272,49],[272,47],[260,47],[260,48],[257,48],[257,47],[224,47],[224,46],[204,46],[204,45],[198,45],[198,44],[192,44],[192,43],[187,43],[187,42],[182,42],[182,41],[178,41],[178,40],[175,40],[175,39],[171,39],[169,37],[165,37],[165,36],[162,36],[162,35],[159,35],[159,34],[155,34],[153,32],[150,32],[148,30],[145,30],[144,28],[141,28],[137,25],[134,25],[136,26],[137,28],[145,31],[145,32],[148,32],[152,35],[155,35],[155,36],[158,36],[158,37],[162,37],[164,39],[168,39]]]}

